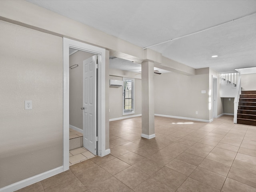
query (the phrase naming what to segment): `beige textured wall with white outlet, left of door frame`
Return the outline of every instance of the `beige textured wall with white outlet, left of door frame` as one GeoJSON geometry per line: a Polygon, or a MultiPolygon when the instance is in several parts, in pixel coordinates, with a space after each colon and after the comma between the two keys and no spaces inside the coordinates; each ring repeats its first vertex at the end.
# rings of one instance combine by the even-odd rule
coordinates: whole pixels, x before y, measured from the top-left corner
{"type": "Polygon", "coordinates": [[[63,165],[63,45],[3,21],[0,42],[2,188],[63,165]]]}

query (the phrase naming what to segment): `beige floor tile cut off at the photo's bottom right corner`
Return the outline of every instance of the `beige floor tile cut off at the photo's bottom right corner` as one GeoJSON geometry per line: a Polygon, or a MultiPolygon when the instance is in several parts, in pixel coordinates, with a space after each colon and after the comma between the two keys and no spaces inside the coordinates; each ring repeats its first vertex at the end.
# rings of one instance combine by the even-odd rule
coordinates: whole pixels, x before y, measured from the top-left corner
{"type": "Polygon", "coordinates": [[[222,191],[223,192],[255,192],[256,189],[252,186],[227,178],[222,188],[222,191]]]}

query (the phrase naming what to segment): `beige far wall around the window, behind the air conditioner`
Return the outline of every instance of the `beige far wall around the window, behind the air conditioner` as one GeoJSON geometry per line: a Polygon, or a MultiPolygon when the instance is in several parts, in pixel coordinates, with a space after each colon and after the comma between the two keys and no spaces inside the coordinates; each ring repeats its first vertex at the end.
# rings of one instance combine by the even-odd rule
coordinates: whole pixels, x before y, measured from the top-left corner
{"type": "MultiPolygon", "coordinates": [[[[110,76],[110,79],[123,80],[120,76],[110,76]]],[[[129,77],[130,78],[130,77],[129,77]]],[[[108,83],[109,84],[109,83],[108,83]]],[[[139,115],[141,114],[141,80],[135,79],[135,91],[134,91],[134,114],[124,115],[122,114],[123,105],[123,87],[109,87],[109,118],[122,118],[127,116],[139,115]]]]}

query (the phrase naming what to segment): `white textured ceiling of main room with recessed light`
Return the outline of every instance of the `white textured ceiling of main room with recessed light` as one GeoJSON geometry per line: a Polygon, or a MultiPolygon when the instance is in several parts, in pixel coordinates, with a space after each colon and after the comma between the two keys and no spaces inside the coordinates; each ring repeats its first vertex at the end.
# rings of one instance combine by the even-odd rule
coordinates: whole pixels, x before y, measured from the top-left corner
{"type": "Polygon", "coordinates": [[[193,68],[256,66],[256,0],[28,0],[193,68]],[[217,58],[211,58],[218,55],[217,58]]]}

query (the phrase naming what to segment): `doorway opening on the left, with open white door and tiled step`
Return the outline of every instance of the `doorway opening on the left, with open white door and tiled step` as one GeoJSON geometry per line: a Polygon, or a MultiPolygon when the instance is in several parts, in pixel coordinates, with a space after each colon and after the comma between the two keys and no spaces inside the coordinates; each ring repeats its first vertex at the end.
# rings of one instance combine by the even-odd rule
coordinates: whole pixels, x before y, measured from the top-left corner
{"type": "Polygon", "coordinates": [[[70,165],[97,154],[97,55],[69,48],[70,165]]]}

